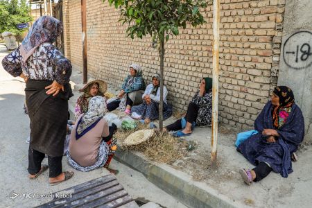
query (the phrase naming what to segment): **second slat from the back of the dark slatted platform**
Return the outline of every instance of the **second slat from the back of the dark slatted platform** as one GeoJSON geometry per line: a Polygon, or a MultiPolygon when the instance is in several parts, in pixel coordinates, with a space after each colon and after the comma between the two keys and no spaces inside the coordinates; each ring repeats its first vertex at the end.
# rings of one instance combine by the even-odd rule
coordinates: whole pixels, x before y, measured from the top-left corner
{"type": "MultiPolygon", "coordinates": [[[[53,203],[54,206],[52,207],[61,207],[64,205],[71,205],[71,202],[74,202],[74,204],[79,204],[79,201],[85,201],[89,199],[89,196],[94,196],[96,193],[102,193],[103,191],[111,190],[114,192],[115,189],[123,189],[121,185],[119,185],[119,182],[117,180],[113,180],[112,182],[108,182],[106,184],[101,184],[98,187],[89,187],[89,189],[80,192],[80,193],[73,193],[72,198],[55,200],[53,203]],[[116,188],[115,188],[116,187],[116,188]],[[60,203],[62,202],[62,203],[60,203]]],[[[107,193],[110,193],[110,191],[107,191],[107,193]]],[[[85,202],[83,202],[84,204],[85,202]]]]}

